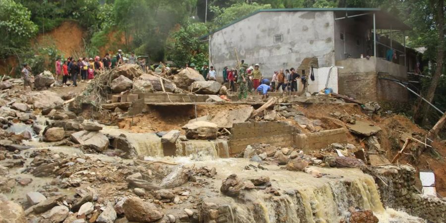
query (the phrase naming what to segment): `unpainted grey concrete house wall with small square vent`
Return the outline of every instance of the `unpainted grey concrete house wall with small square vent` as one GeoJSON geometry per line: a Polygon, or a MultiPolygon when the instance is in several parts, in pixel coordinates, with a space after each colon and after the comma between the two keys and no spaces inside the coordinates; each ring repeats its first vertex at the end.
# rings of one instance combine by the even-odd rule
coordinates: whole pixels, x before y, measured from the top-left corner
{"type": "Polygon", "coordinates": [[[222,75],[224,66],[239,59],[260,64],[265,77],[275,70],[298,67],[305,57],[318,57],[319,66],[335,64],[333,11],[259,12],[232,24],[209,38],[210,63],[222,75]],[[274,42],[275,35],[283,41],[274,42]]]}

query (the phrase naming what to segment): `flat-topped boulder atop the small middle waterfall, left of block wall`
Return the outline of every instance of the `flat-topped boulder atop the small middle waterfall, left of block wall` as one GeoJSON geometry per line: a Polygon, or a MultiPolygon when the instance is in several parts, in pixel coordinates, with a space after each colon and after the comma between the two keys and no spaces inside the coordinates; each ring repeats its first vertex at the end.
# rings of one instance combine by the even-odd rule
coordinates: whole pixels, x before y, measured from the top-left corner
{"type": "Polygon", "coordinates": [[[217,124],[208,121],[196,121],[182,127],[188,139],[217,139],[217,124]]]}

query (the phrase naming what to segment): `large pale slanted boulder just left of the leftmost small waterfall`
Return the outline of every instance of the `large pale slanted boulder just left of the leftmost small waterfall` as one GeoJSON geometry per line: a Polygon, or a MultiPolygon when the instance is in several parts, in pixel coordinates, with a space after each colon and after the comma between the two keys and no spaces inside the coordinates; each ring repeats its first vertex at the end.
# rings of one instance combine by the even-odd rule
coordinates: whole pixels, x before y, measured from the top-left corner
{"type": "Polygon", "coordinates": [[[94,149],[98,152],[104,151],[109,147],[109,139],[100,132],[79,131],[71,134],[71,140],[86,148],[94,149]]]}

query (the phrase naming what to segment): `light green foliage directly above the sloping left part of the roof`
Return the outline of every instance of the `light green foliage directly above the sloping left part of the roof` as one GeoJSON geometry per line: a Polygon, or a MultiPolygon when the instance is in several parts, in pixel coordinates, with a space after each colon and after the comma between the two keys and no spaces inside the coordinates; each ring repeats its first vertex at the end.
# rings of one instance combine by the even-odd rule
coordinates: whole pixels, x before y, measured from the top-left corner
{"type": "Polygon", "coordinates": [[[216,15],[213,23],[213,29],[227,25],[234,20],[247,16],[257,10],[271,8],[271,4],[254,3],[235,3],[227,8],[220,8],[218,6],[211,6],[210,10],[216,15]]]}

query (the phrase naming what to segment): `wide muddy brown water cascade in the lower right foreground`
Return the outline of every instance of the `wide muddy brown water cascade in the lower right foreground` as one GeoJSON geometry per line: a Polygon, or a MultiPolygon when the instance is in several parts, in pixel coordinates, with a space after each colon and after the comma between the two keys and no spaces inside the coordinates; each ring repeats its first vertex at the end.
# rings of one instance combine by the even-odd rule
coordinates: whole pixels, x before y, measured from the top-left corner
{"type": "Polygon", "coordinates": [[[268,170],[244,167],[256,163],[246,159],[216,159],[193,161],[190,158],[174,159],[185,166],[216,167],[213,188],[219,190],[222,180],[236,173],[241,178],[269,176],[272,186],[281,189],[280,196],[266,194],[263,190],[246,191],[244,198],[226,197],[219,192],[204,191],[205,202],[227,205],[228,222],[237,223],[338,223],[349,214],[351,206],[372,210],[380,223],[422,223],[423,220],[408,214],[385,209],[373,178],[355,168],[311,167],[325,174],[314,178],[305,172],[264,166],[268,170]]]}

